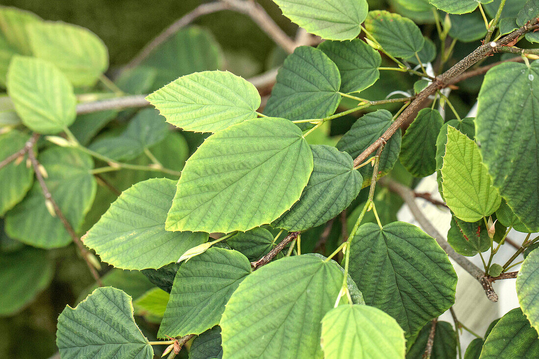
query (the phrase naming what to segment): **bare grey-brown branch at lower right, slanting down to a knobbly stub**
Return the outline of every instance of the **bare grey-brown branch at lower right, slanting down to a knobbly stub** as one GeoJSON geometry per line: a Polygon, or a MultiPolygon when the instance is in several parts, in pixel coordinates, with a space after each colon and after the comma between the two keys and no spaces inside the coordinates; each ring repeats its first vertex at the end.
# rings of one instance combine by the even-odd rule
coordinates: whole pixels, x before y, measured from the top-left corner
{"type": "Polygon", "coordinates": [[[479,281],[479,283],[483,287],[483,290],[487,294],[487,298],[490,301],[498,301],[498,296],[494,292],[494,288],[488,280],[488,275],[485,274],[485,272],[481,271],[478,266],[473,264],[464,256],[461,256],[459,253],[455,252],[455,250],[451,247],[447,240],[444,239],[440,232],[438,232],[438,230],[432,225],[432,223],[425,217],[423,212],[421,212],[411,189],[387,177],[381,178],[378,183],[399,195],[403,199],[404,203],[406,203],[406,205],[410,209],[410,212],[412,212],[413,217],[417,220],[423,230],[427,234],[429,234],[429,236],[436,239],[440,247],[442,247],[442,249],[448,254],[448,256],[451,257],[455,262],[457,262],[457,264],[460,265],[462,269],[464,269],[466,272],[471,274],[472,277],[479,281]]]}

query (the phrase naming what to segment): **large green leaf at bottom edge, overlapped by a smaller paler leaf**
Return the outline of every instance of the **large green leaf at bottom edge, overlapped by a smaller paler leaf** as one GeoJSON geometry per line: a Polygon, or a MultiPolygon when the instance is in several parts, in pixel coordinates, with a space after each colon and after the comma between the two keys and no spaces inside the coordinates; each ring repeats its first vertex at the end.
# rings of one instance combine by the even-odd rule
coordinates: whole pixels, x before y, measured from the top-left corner
{"type": "Polygon", "coordinates": [[[223,356],[322,358],[320,321],[335,305],[342,280],[334,261],[315,256],[260,267],[226,305],[220,322],[223,356]]]}

